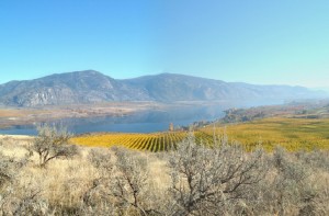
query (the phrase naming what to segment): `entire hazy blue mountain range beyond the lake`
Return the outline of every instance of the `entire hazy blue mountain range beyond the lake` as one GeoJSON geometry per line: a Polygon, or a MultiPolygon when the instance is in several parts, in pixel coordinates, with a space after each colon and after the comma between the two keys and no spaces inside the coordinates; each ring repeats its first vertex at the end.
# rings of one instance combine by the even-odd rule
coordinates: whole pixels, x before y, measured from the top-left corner
{"type": "Polygon", "coordinates": [[[286,100],[324,95],[303,87],[254,86],[174,73],[116,80],[94,70],[0,84],[1,105],[30,107],[105,101],[286,100]]]}

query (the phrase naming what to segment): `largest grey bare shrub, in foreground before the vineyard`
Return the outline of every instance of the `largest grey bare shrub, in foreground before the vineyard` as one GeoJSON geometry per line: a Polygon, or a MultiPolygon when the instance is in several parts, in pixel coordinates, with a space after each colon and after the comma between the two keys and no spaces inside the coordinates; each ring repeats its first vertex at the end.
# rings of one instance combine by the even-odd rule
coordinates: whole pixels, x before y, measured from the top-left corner
{"type": "Polygon", "coordinates": [[[264,163],[261,150],[247,155],[240,146],[226,143],[207,148],[189,136],[169,160],[172,179],[169,202],[175,203],[173,214],[240,213],[237,206],[264,177],[264,163]]]}

